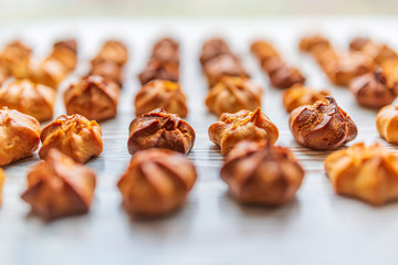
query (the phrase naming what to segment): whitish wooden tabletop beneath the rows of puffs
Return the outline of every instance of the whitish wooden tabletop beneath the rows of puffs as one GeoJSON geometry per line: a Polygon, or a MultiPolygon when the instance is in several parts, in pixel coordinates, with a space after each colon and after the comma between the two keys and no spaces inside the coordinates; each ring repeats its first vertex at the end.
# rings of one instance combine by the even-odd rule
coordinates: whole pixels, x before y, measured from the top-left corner
{"type": "MultiPolygon", "coordinates": [[[[273,41],[286,61],[300,66],[308,85],[331,88],[337,103],[357,124],[354,142],[384,140],[375,127],[376,113],[360,108],[345,88],[332,87],[311,57],[300,55],[297,40],[320,31],[342,49],[356,34],[367,34],[398,47],[397,19],[268,19],[268,20],[117,20],[91,19],[13,24],[0,30],[0,44],[20,38],[44,55],[56,39],[76,36],[81,65],[63,84],[76,81],[87,61],[106,38],[119,38],[130,49],[119,113],[101,124],[104,152],[87,166],[97,172],[95,200],[88,214],[44,223],[29,215],[20,194],[25,173],[38,155],[6,168],[3,205],[0,210],[0,264],[397,264],[398,203],[373,208],[334,194],[323,170],[328,152],[298,146],[282,108],[281,91],[270,87],[249,53],[256,38],[273,41]],[[189,155],[199,179],[185,208],[155,221],[130,220],[121,208],[116,181],[130,156],[128,124],[134,118],[133,98],[154,41],[171,34],[181,43],[181,83],[189,98],[188,121],[197,134],[189,155]],[[253,80],[264,87],[263,110],[280,129],[279,145],[293,149],[306,170],[296,200],[280,209],[242,206],[219,178],[222,157],[210,142],[207,129],[217,118],[207,113],[207,87],[198,55],[208,36],[224,36],[242,56],[253,80]]],[[[56,115],[63,114],[60,98],[56,115]]],[[[389,146],[391,149],[396,147],[389,146]]]]}

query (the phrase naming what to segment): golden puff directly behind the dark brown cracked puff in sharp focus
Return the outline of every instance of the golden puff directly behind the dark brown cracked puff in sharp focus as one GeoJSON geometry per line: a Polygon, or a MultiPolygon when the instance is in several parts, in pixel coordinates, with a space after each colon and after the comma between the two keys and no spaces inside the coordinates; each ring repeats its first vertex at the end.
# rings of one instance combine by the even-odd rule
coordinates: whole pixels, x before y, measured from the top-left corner
{"type": "Polygon", "coordinates": [[[155,80],[142,86],[135,97],[136,115],[159,107],[180,117],[187,116],[187,99],[178,83],[155,80]]]}

